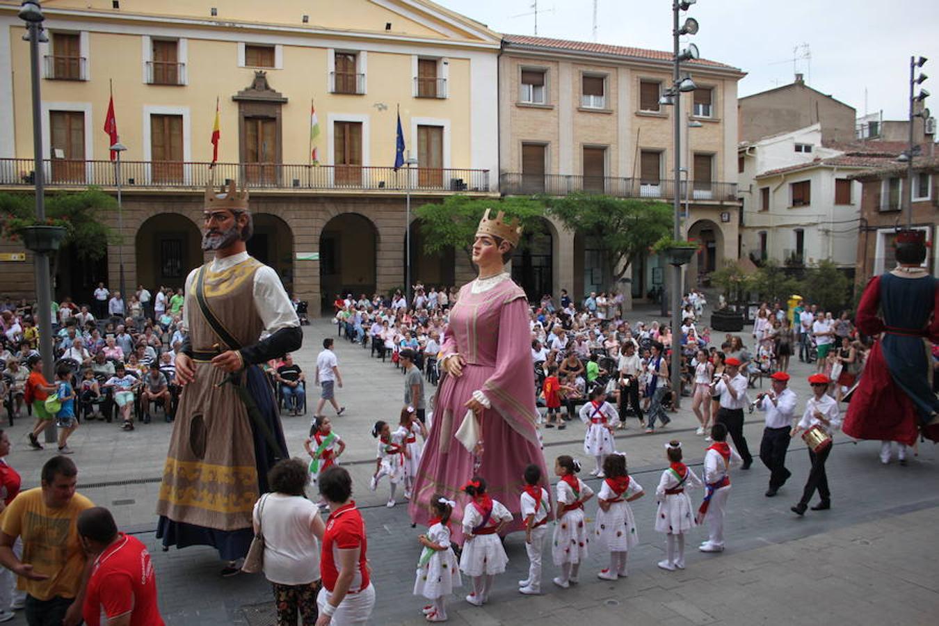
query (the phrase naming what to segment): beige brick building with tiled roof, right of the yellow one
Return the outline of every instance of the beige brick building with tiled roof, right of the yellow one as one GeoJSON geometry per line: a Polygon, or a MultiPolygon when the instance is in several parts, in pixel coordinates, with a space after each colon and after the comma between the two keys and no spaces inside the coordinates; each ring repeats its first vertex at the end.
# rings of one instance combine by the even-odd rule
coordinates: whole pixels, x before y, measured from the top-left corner
{"type": "MultiPolygon", "coordinates": [[[[682,193],[684,229],[704,249],[689,282],[738,252],[736,191],[739,69],[714,61],[687,63],[698,89],[682,96],[682,166],[692,184],[675,184],[673,108],[660,103],[671,84],[671,54],[638,48],[505,35],[499,85],[500,191],[503,194],[594,191],[671,202],[682,193]]],[[[652,242],[650,242],[651,244],[652,242]]],[[[575,298],[607,290],[592,237],[555,221],[528,259],[529,293],[575,298]]],[[[662,272],[657,261],[634,259],[633,298],[644,298],[662,272]]],[[[626,287],[626,285],[622,285],[626,287]]]]}

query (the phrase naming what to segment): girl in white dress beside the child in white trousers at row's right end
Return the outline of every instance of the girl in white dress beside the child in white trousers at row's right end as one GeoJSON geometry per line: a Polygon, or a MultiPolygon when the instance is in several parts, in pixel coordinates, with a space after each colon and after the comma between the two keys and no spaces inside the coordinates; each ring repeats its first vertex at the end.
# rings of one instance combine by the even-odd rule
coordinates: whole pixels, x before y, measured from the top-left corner
{"type": "Polygon", "coordinates": [[[700,487],[701,481],[691,468],[682,463],[682,444],[670,441],[665,445],[670,466],[662,472],[655,488],[658,510],[655,512],[655,532],[666,535],[666,557],[658,562],[663,570],[685,569],[685,533],[695,527],[691,498],[686,491],[700,487]]]}

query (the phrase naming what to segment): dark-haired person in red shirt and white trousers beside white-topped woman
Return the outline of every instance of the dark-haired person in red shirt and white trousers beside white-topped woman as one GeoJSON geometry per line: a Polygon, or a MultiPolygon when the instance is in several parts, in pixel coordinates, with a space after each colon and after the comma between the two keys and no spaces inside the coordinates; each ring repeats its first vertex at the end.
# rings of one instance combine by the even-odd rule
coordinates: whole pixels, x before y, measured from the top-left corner
{"type": "Polygon", "coordinates": [[[352,479],[345,468],[332,466],[317,481],[330,505],[323,533],[319,573],[323,588],[316,603],[316,626],[346,626],[368,622],[375,608],[375,588],[369,580],[365,522],[352,496],[352,479]]]}

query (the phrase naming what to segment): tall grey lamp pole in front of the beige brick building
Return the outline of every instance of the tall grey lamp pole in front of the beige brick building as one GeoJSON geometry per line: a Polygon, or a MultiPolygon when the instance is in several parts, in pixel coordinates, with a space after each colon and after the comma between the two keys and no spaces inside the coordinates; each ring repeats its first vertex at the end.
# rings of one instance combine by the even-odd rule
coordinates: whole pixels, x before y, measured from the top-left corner
{"type": "MultiPolygon", "coordinates": [[[[681,168],[682,168],[682,92],[678,88],[679,84],[679,65],[678,60],[678,0],[674,0],[671,5],[672,13],[672,48],[674,52],[674,68],[673,68],[673,88],[675,90],[675,111],[674,111],[674,127],[675,127],[675,146],[674,146],[674,172],[673,180],[676,189],[672,193],[674,196],[673,208],[674,208],[674,229],[672,232],[672,237],[676,240],[682,238],[682,225],[681,225],[681,211],[682,211],[682,196],[681,196],[681,168]]],[[[670,376],[671,376],[671,390],[672,397],[674,398],[674,405],[677,408],[681,403],[682,398],[682,372],[681,372],[681,363],[682,363],[682,267],[681,266],[672,266],[671,269],[671,365],[670,365],[670,376]]]]}

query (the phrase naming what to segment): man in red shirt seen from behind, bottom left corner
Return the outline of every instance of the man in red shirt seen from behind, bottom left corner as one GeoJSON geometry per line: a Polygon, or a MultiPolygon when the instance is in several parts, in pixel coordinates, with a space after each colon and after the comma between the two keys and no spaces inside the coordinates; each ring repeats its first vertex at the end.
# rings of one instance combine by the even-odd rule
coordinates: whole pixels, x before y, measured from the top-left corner
{"type": "Polygon", "coordinates": [[[82,616],[99,626],[163,626],[157,607],[157,579],[146,547],[135,537],[117,532],[115,518],[103,507],[78,516],[78,535],[95,557],[85,591],[82,616]]]}

